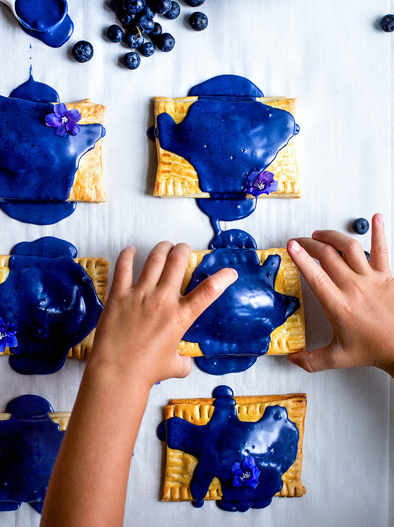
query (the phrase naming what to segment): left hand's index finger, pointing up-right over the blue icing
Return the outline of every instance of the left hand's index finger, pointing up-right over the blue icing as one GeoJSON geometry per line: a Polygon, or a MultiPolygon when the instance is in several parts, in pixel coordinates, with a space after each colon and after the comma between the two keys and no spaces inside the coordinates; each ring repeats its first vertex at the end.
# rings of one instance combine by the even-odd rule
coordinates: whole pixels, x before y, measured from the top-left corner
{"type": "Polygon", "coordinates": [[[235,269],[226,267],[215,272],[214,275],[205,278],[193,291],[181,299],[181,305],[186,313],[186,324],[188,327],[193,324],[194,320],[201,315],[212,302],[220,297],[235,280],[238,278],[238,272],[235,269]]]}

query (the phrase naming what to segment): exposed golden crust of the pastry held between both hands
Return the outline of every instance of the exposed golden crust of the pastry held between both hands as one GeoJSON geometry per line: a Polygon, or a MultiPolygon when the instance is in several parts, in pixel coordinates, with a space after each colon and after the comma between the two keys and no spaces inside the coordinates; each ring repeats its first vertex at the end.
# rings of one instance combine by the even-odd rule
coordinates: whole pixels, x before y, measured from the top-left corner
{"type": "MultiPolygon", "coordinates": [[[[189,264],[183,278],[181,293],[184,294],[192,274],[196,267],[201,264],[203,257],[210,253],[210,250],[192,251],[189,257],[189,264]]],[[[304,309],[301,293],[300,273],[293,260],[290,258],[286,249],[265,249],[256,251],[261,264],[269,255],[279,255],[281,264],[277,280],[275,281],[275,290],[283,295],[296,296],[300,299],[301,305],[296,313],[291,315],[282,326],[274,329],[271,333],[271,342],[267,355],[289,355],[291,353],[302,352],[305,348],[305,321],[304,309]]],[[[198,343],[186,342],[181,340],[178,346],[180,355],[189,355],[189,357],[198,357],[202,351],[198,343]]]]}

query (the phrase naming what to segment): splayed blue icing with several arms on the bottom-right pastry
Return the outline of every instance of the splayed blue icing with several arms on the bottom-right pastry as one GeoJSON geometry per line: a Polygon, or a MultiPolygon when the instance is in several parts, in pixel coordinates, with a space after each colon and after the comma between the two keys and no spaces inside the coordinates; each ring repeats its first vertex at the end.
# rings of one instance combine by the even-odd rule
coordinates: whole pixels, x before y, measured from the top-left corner
{"type": "Polygon", "coordinates": [[[218,386],[213,396],[214,411],[206,425],[171,417],[159,425],[157,435],[170,448],[198,458],[190,483],[196,506],[203,505],[213,478],[218,477],[222,499],[216,504],[221,509],[245,512],[267,507],[283,486],[282,475],[296,461],[298,428],[284,407],[268,406],[259,421],[242,422],[231,388],[218,386]],[[233,486],[231,467],[248,456],[253,456],[260,471],[255,489],[233,486]]]}

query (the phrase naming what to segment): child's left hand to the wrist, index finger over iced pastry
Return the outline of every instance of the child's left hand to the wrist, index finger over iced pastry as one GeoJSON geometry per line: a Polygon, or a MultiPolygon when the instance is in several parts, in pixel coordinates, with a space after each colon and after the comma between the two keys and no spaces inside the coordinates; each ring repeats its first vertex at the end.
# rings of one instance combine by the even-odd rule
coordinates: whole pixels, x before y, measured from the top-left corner
{"type": "Polygon", "coordinates": [[[190,247],[168,241],[150,252],[133,285],[135,248],[117,259],[112,288],[98,322],[90,363],[111,363],[120,372],[145,379],[149,387],[169,377],[186,377],[190,357],[176,351],[194,320],[238,277],[221,269],[182,296],[190,247]]]}

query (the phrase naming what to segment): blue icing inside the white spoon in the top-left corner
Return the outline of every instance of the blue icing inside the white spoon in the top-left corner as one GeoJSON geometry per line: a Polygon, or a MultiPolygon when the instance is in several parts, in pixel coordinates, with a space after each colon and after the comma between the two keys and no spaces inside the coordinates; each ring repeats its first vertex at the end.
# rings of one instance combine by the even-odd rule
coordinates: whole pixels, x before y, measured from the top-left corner
{"type": "Polygon", "coordinates": [[[51,30],[67,14],[65,0],[15,0],[15,13],[26,26],[38,32],[51,30]]]}

